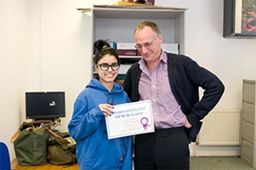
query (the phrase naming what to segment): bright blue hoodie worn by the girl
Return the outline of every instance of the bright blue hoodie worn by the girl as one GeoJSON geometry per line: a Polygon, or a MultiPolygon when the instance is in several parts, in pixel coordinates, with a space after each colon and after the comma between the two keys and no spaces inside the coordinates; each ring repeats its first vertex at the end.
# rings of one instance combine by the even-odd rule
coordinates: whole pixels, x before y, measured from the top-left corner
{"type": "Polygon", "coordinates": [[[132,169],[133,137],[108,139],[105,116],[98,105],[128,103],[128,95],[114,83],[109,92],[98,80],[92,79],[77,96],[68,130],[77,140],[79,169],[132,169]]]}

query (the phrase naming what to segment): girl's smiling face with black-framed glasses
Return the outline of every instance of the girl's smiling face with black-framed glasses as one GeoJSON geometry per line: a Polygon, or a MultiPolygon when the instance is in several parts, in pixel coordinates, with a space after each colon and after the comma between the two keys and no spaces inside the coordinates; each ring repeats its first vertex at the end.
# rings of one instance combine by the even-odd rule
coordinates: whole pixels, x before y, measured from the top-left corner
{"type": "Polygon", "coordinates": [[[106,54],[95,65],[95,70],[99,73],[102,84],[114,82],[117,78],[119,65],[114,55],[106,54]]]}

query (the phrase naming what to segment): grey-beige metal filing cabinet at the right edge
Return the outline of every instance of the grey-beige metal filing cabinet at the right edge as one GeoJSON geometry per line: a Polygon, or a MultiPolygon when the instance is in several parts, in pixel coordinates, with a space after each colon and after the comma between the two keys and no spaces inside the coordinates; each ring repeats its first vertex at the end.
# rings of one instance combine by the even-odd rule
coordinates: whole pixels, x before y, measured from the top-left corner
{"type": "Polygon", "coordinates": [[[255,80],[243,80],[241,158],[256,167],[256,86],[255,80]]]}

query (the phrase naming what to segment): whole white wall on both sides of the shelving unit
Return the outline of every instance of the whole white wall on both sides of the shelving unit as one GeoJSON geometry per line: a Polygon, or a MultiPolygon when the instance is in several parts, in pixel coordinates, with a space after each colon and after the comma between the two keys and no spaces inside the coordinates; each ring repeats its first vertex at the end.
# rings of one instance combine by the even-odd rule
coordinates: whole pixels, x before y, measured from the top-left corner
{"type": "MultiPolygon", "coordinates": [[[[76,8],[102,2],[0,0],[0,140],[9,145],[11,159],[9,139],[26,121],[26,91],[64,90],[66,117],[59,128],[67,128],[73,101],[89,82],[92,67],[90,16],[76,8]]],[[[256,79],[256,40],[222,37],[223,0],[156,0],[156,5],[189,8],[185,54],[225,83],[216,109],[242,109],[242,79],[256,79]]]]}

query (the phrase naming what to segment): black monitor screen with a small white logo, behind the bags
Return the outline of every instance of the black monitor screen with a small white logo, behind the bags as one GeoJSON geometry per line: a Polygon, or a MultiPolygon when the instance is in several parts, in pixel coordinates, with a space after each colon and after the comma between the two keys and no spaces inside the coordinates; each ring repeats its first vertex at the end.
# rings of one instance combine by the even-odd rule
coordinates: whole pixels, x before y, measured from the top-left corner
{"type": "Polygon", "coordinates": [[[65,92],[26,92],[26,118],[54,120],[65,117],[65,92]]]}

